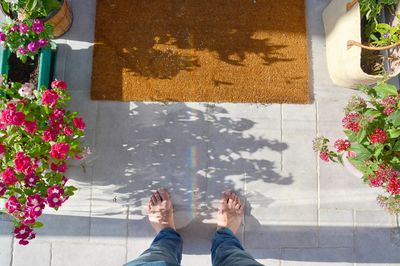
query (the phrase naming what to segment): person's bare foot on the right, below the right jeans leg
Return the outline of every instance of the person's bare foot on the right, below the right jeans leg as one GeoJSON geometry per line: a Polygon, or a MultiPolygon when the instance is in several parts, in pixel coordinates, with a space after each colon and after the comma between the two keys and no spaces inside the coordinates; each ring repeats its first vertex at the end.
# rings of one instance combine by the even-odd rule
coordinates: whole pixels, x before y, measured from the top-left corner
{"type": "Polygon", "coordinates": [[[225,191],[218,208],[217,228],[227,227],[236,234],[242,224],[243,210],[239,197],[234,192],[225,191]]]}

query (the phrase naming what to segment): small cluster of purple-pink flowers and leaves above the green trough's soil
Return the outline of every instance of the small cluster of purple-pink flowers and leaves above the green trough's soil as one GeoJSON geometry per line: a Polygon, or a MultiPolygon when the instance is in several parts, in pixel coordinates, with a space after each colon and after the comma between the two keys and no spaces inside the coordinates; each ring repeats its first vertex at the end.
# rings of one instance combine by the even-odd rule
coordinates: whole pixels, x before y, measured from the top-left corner
{"type": "Polygon", "coordinates": [[[52,26],[38,19],[13,21],[1,27],[0,43],[8,47],[22,62],[34,59],[41,48],[49,47],[52,26]]]}

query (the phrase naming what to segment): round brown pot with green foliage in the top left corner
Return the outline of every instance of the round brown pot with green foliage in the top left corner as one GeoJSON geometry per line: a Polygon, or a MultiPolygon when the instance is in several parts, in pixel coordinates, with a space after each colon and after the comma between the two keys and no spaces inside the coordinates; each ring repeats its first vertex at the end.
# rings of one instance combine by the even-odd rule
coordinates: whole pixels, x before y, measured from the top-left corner
{"type": "Polygon", "coordinates": [[[68,0],[3,0],[3,13],[14,20],[38,18],[53,25],[53,36],[58,38],[72,26],[72,9],[68,0]]]}

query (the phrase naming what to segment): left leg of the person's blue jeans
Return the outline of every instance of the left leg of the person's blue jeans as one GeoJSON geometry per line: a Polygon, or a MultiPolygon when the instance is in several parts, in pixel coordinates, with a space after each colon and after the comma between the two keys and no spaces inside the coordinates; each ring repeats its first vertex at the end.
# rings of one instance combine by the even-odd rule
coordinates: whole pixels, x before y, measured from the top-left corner
{"type": "Polygon", "coordinates": [[[172,228],[161,230],[148,250],[125,266],[179,266],[182,260],[182,238],[172,228]]]}

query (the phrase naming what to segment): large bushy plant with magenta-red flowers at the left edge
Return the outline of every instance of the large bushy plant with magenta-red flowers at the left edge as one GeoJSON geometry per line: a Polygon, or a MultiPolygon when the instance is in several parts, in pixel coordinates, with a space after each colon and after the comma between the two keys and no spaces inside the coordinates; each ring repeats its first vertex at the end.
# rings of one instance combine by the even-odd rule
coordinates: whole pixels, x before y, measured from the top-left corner
{"type": "Polygon", "coordinates": [[[68,159],[83,156],[85,123],[65,109],[70,98],[60,80],[34,90],[0,79],[0,198],[22,245],[35,238],[43,209],[57,210],[76,190],[65,172],[68,159]]]}

